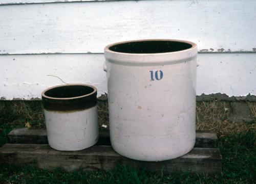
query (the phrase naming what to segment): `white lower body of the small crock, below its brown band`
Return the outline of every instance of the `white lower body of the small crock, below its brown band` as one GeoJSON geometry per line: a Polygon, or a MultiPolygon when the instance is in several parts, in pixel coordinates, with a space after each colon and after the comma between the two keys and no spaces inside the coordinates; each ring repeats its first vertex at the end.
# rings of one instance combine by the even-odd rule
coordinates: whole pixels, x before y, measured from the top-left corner
{"type": "Polygon", "coordinates": [[[57,150],[75,151],[93,146],[98,139],[97,107],[59,113],[44,110],[49,145],[57,150]]]}

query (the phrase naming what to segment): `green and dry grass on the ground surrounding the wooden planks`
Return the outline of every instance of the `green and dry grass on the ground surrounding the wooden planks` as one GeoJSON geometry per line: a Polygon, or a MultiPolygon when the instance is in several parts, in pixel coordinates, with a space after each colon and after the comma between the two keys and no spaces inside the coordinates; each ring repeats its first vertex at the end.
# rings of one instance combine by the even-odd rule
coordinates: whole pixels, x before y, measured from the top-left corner
{"type": "MultiPolygon", "coordinates": [[[[105,101],[100,102],[99,120],[104,124],[108,124],[106,107],[105,101]]],[[[255,183],[255,125],[226,121],[224,115],[216,112],[214,103],[201,104],[197,113],[199,129],[214,129],[219,135],[218,146],[223,156],[220,175],[163,175],[145,168],[132,169],[123,166],[112,171],[88,172],[80,169],[66,172],[61,169],[39,169],[36,165],[0,165],[0,183],[255,183]],[[202,116],[203,113],[205,117],[202,116]]],[[[10,130],[25,127],[25,122],[30,122],[32,128],[44,128],[40,101],[0,103],[0,146],[6,143],[6,135],[10,130]]]]}

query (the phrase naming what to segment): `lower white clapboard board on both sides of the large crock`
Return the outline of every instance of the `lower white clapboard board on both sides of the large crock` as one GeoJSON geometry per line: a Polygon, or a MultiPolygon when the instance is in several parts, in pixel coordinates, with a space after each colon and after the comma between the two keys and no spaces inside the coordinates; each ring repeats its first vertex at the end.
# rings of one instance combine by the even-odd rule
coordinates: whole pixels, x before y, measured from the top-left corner
{"type": "MultiPolygon", "coordinates": [[[[2,99],[40,98],[47,87],[64,84],[61,80],[93,84],[98,96],[107,91],[103,54],[2,55],[0,61],[2,99]]],[[[256,54],[201,53],[198,61],[197,95],[256,94],[256,54]]]]}

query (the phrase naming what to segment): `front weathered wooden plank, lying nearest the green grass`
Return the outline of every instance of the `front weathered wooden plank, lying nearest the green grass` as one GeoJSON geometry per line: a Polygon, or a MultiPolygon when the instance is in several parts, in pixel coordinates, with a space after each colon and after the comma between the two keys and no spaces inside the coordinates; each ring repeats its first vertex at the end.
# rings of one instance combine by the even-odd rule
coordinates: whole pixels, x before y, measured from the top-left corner
{"type": "Polygon", "coordinates": [[[85,170],[110,170],[117,164],[123,164],[131,167],[146,167],[164,173],[182,170],[213,174],[221,172],[221,160],[218,148],[194,148],[177,159],[162,162],[127,159],[116,153],[111,146],[92,146],[81,151],[57,151],[44,144],[5,144],[0,148],[0,163],[36,162],[40,168],[61,167],[68,171],[80,167],[85,170]]]}

